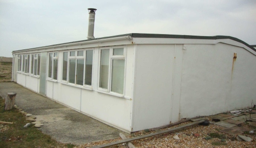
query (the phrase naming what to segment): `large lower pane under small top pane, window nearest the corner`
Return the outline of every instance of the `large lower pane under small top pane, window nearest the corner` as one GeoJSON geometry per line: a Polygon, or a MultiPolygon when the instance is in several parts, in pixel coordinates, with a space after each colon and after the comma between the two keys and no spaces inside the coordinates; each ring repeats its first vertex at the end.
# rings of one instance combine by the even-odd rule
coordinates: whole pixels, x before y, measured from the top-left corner
{"type": "Polygon", "coordinates": [[[124,60],[113,60],[111,91],[123,94],[124,60]]]}

